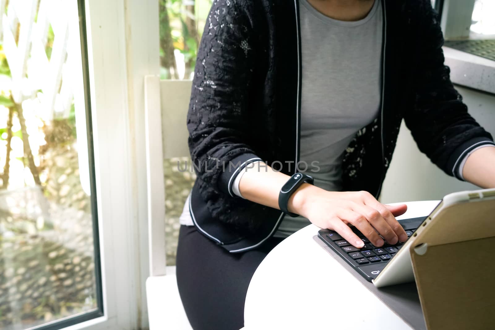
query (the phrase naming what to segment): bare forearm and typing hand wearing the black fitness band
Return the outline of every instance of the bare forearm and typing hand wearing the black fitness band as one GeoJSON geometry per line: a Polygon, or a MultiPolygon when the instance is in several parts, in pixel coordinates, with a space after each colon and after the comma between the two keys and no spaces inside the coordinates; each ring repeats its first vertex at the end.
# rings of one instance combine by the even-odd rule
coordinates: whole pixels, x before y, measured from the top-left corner
{"type": "MultiPolygon", "coordinates": [[[[239,190],[250,201],[278,209],[280,189],[290,177],[259,164],[246,169],[239,190]]],[[[289,211],[302,215],[320,228],[335,230],[356,247],[362,247],[363,241],[348,224],[354,225],[376,246],[384,244],[378,234],[391,244],[407,239],[394,217],[403,214],[407,207],[383,205],[366,191],[327,191],[303,184],[289,199],[288,207],[289,211]]]]}

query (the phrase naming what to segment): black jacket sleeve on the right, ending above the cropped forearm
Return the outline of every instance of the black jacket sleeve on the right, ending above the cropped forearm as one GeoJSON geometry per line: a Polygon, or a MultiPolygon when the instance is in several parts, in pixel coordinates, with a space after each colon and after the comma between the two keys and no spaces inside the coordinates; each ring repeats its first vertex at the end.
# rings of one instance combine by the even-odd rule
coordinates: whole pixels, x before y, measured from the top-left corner
{"type": "MultiPolygon", "coordinates": [[[[473,146],[493,142],[492,136],[471,117],[462,97],[449,79],[444,64],[444,39],[437,13],[429,0],[420,0],[421,8],[411,21],[416,32],[414,107],[404,115],[421,152],[447,175],[459,177],[456,164],[473,146]]],[[[461,178],[459,178],[461,179],[461,178]]]]}

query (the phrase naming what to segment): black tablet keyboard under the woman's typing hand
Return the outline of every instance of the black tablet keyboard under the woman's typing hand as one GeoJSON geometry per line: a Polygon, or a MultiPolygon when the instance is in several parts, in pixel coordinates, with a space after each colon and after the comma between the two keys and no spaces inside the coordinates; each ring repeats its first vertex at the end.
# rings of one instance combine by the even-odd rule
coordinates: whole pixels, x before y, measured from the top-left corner
{"type": "MultiPolygon", "coordinates": [[[[404,228],[407,236],[410,237],[426,218],[404,219],[400,220],[399,224],[404,228]]],[[[363,240],[364,246],[362,248],[352,246],[352,244],[347,242],[339,234],[329,229],[320,230],[318,237],[346,260],[361,276],[371,282],[371,280],[380,274],[394,255],[396,255],[404,242],[397,242],[396,244],[385,242],[383,246],[378,247],[371,244],[368,238],[361,234],[357,228],[351,227],[351,229],[363,240]]]]}

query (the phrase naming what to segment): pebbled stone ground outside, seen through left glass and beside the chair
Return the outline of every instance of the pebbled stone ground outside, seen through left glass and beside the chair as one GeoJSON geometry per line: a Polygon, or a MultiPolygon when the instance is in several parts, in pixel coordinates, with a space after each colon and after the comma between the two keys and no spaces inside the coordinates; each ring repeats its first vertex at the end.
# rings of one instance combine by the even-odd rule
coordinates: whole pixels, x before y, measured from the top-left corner
{"type": "MultiPolygon", "coordinates": [[[[57,156],[60,164],[48,164],[48,196],[40,187],[0,192],[0,329],[21,330],[96,308],[90,198],[77,170],[64,169],[76,167],[77,158],[65,155],[67,164],[57,156]]],[[[178,161],[181,169],[190,162],[164,161],[168,266],[175,265],[179,216],[196,179],[189,170],[180,172],[178,161]]]]}

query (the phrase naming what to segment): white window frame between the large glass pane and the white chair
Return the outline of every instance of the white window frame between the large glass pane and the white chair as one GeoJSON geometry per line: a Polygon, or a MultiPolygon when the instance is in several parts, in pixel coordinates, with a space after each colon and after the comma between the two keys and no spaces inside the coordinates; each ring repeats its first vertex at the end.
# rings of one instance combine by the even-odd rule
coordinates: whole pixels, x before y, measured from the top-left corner
{"type": "Polygon", "coordinates": [[[67,329],[147,328],[142,132],[144,77],[159,72],[158,1],[85,0],[85,5],[104,316],[92,326],[67,329]]]}

